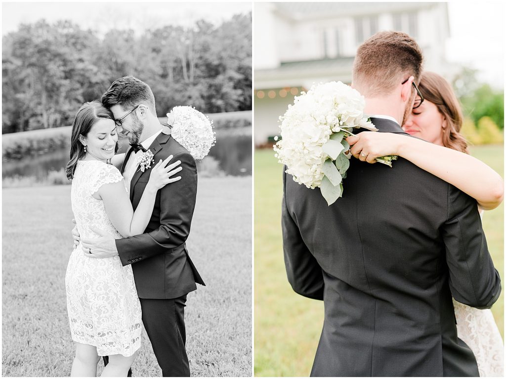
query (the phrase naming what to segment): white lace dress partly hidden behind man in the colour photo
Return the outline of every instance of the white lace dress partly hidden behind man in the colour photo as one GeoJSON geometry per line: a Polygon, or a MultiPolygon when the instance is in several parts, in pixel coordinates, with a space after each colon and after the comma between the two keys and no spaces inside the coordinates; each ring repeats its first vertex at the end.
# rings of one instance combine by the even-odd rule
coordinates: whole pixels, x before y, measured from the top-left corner
{"type": "Polygon", "coordinates": [[[473,351],[480,376],[503,376],[504,344],[492,311],[453,300],[457,335],[473,351]]]}

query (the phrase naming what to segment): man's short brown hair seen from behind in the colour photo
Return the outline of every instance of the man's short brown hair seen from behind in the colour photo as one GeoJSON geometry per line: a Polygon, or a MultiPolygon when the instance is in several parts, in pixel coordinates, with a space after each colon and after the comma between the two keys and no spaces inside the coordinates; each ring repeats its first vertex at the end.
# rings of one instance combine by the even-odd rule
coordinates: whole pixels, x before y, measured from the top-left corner
{"type": "Polygon", "coordinates": [[[419,83],[423,54],[412,37],[401,31],[380,31],[357,49],[353,83],[368,96],[386,95],[411,75],[419,83]]]}

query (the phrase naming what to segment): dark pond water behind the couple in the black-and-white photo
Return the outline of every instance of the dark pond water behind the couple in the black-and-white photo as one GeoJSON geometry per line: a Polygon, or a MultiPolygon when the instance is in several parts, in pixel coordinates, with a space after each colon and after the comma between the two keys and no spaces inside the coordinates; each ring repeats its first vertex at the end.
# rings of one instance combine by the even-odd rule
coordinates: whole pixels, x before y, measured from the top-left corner
{"type": "MultiPolygon", "coordinates": [[[[128,141],[120,141],[121,149],[126,151],[128,141]]],[[[34,176],[39,180],[47,177],[49,171],[58,171],[69,160],[70,148],[62,148],[44,155],[27,157],[19,161],[2,163],[2,178],[14,176],[34,176]]],[[[208,157],[218,161],[220,169],[228,175],[251,175],[251,135],[219,135],[216,145],[208,157]]],[[[208,159],[204,158],[204,161],[208,159]]],[[[205,166],[205,162],[203,162],[205,166]]]]}

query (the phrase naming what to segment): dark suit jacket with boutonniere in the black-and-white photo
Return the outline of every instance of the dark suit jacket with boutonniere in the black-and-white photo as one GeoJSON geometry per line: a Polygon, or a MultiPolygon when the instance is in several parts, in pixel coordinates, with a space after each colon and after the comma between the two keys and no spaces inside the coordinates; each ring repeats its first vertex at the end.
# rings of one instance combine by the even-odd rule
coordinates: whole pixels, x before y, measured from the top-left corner
{"type": "MultiPolygon", "coordinates": [[[[164,127],[149,149],[155,164],[171,154],[172,162],[181,161],[181,180],[165,185],[156,194],[153,214],[144,234],[116,240],[123,266],[132,264],[140,298],[172,299],[205,285],[190,260],[185,241],[197,196],[197,167],[183,146],[164,127]]],[[[126,153],[121,172],[132,152],[126,153]]],[[[154,165],[154,164],[153,164],[154,165]]],[[[130,200],[134,210],[139,205],[151,169],[137,171],[131,181],[130,200]]]]}

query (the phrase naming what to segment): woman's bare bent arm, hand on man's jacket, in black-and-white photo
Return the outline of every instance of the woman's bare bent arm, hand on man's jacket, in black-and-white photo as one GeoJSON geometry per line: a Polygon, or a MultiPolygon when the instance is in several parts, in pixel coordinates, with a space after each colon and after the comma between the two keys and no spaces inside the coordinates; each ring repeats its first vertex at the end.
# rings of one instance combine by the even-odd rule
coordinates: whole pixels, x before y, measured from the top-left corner
{"type": "Polygon", "coordinates": [[[142,194],[139,205],[135,212],[132,208],[130,198],[125,191],[124,181],[102,185],[95,195],[95,198],[102,199],[105,210],[109,216],[114,228],[124,237],[131,237],[144,233],[148,225],[153,206],[155,203],[158,189],[165,184],[172,183],[181,179],[181,176],[171,178],[171,175],[181,171],[177,167],[181,162],[176,161],[165,167],[172,159],[169,156],[165,161],[158,162],[149,175],[149,181],[142,194]],[[98,196],[97,196],[98,195],[98,196]]]}

